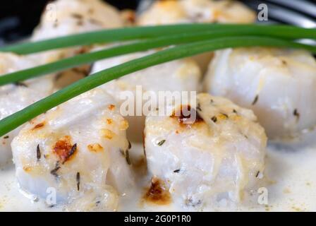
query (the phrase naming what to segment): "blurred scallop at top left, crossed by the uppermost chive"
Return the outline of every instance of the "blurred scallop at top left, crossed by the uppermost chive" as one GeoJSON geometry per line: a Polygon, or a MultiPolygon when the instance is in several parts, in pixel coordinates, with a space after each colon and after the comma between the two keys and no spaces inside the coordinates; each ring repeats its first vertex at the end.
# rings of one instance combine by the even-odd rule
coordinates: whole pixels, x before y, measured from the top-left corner
{"type": "MultiPolygon", "coordinates": [[[[47,6],[41,23],[32,35],[32,41],[106,28],[119,28],[124,23],[119,11],[104,1],[57,0],[47,6]]],[[[86,50],[86,48],[68,48],[39,55],[43,63],[47,63],[86,50]]],[[[35,54],[35,57],[38,57],[38,54],[35,54]]]]}

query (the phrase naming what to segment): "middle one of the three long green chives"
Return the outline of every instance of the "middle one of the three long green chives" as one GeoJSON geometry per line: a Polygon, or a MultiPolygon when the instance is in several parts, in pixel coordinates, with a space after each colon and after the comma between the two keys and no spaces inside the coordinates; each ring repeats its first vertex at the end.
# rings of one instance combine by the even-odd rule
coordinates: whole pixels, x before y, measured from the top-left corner
{"type": "MultiPolygon", "coordinates": [[[[246,35],[255,35],[257,30],[245,30],[243,28],[230,28],[229,30],[207,30],[195,33],[182,33],[178,35],[168,35],[166,37],[158,37],[142,42],[135,42],[132,44],[125,44],[119,47],[112,47],[109,49],[99,50],[97,52],[90,52],[85,54],[79,54],[75,57],[69,57],[60,61],[55,61],[49,64],[36,66],[34,68],[25,69],[22,71],[16,71],[0,76],[0,85],[6,85],[8,83],[16,83],[18,81],[24,81],[29,78],[35,78],[37,76],[43,76],[48,73],[54,73],[65,69],[70,69],[75,66],[83,64],[90,64],[99,59],[107,59],[109,57],[117,57],[123,54],[130,54],[133,52],[141,52],[148,49],[157,47],[166,47],[171,44],[184,44],[189,42],[197,42],[202,40],[210,40],[219,37],[235,37],[246,35]]],[[[316,35],[316,34],[315,34],[316,35]]]]}

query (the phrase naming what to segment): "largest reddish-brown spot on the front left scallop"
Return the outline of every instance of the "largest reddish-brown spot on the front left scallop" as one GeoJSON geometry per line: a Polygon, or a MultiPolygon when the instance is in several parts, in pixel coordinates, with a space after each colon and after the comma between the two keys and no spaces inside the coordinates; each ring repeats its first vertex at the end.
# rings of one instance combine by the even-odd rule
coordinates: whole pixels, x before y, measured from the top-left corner
{"type": "Polygon", "coordinates": [[[71,160],[73,155],[77,152],[77,144],[71,143],[70,136],[64,136],[57,141],[53,147],[53,153],[55,153],[62,163],[71,160]]]}

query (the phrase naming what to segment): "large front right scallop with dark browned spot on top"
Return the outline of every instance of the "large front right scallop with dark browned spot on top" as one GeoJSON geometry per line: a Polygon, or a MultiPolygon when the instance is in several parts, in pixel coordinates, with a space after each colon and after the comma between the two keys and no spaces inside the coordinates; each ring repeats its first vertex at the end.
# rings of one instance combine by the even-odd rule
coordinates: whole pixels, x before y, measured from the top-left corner
{"type": "Polygon", "coordinates": [[[155,113],[146,118],[147,167],[174,202],[198,208],[222,199],[243,201],[257,191],[267,137],[251,110],[201,93],[196,107],[155,113]]]}

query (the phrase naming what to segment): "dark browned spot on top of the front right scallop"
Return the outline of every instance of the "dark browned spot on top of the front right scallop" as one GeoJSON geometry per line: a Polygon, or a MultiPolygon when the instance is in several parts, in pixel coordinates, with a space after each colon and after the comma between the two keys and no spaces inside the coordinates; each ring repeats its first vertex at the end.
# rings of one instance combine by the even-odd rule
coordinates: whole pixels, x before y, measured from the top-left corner
{"type": "Polygon", "coordinates": [[[177,119],[181,125],[189,126],[204,121],[197,110],[190,107],[190,105],[181,105],[181,107],[174,111],[171,118],[177,119]]]}

